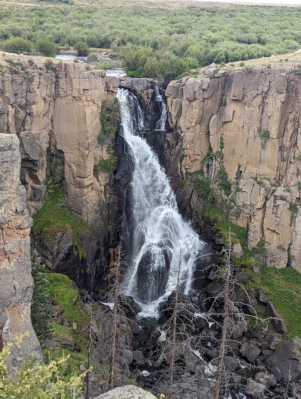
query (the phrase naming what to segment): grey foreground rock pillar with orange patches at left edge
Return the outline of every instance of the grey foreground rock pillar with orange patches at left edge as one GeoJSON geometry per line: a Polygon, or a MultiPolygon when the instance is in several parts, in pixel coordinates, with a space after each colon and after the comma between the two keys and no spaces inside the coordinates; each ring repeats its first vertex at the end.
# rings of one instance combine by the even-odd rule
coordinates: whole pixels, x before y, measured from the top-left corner
{"type": "Polygon", "coordinates": [[[6,342],[28,331],[10,363],[32,353],[41,356],[30,322],[33,288],[29,231],[32,219],[26,191],[20,182],[21,156],[15,134],[0,133],[0,350],[6,342]]]}

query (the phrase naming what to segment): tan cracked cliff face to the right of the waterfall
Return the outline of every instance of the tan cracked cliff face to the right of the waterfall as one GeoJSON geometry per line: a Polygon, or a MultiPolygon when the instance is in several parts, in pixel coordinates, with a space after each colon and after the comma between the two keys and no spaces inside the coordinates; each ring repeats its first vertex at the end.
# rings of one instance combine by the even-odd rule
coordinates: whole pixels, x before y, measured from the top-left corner
{"type": "MultiPolygon", "coordinates": [[[[248,247],[263,239],[268,265],[289,261],[301,272],[301,80],[292,68],[222,69],[210,77],[205,69],[170,82],[166,97],[183,170],[198,171],[210,148],[222,152],[241,209],[232,221],[249,226],[248,247]]],[[[208,177],[219,168],[213,160],[208,177]]]]}

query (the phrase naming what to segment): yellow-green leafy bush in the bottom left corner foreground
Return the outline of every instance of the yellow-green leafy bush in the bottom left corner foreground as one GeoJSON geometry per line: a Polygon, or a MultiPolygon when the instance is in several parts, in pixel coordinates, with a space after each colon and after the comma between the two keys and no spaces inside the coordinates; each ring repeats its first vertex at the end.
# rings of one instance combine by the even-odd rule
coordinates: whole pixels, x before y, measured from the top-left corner
{"type": "Polygon", "coordinates": [[[5,360],[12,352],[13,346],[21,345],[25,334],[17,337],[16,343],[8,343],[0,352],[0,399],[77,399],[82,391],[80,376],[67,371],[68,356],[46,362],[41,365],[33,358],[15,368],[16,376],[11,379],[7,373],[5,360]]]}

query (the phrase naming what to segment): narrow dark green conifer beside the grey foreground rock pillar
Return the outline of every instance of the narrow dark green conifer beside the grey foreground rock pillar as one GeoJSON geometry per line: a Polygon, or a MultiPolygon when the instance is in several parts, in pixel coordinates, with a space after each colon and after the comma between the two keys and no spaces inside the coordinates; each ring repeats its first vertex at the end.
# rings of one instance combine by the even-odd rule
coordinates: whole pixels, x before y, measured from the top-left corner
{"type": "Polygon", "coordinates": [[[35,334],[42,344],[46,339],[51,338],[52,329],[49,320],[49,308],[46,306],[48,289],[45,265],[41,263],[41,259],[33,249],[31,253],[31,275],[33,278],[34,288],[31,299],[31,323],[35,334]]]}

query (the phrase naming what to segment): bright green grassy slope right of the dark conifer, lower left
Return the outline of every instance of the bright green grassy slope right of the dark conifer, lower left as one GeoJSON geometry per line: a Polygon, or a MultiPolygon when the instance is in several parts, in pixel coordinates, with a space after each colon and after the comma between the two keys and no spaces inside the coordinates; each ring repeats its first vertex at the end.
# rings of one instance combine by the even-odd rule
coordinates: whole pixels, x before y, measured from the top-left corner
{"type": "MultiPolygon", "coordinates": [[[[68,363],[72,368],[78,369],[81,364],[87,365],[88,350],[86,336],[86,327],[89,325],[90,316],[88,312],[82,309],[82,303],[78,291],[74,288],[74,283],[67,276],[59,273],[47,273],[47,288],[49,295],[57,301],[58,306],[63,309],[62,313],[51,321],[53,328],[53,337],[66,340],[70,343],[76,352],[70,348],[61,347],[61,352],[71,354],[68,363]],[[62,325],[62,319],[65,317],[68,327],[62,325]],[[73,323],[77,328],[74,330],[73,323]]],[[[44,350],[44,357],[48,352],[44,350]]],[[[56,355],[49,352],[51,358],[56,355]]]]}

